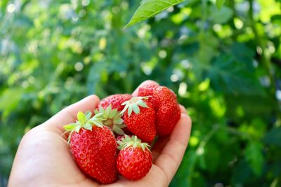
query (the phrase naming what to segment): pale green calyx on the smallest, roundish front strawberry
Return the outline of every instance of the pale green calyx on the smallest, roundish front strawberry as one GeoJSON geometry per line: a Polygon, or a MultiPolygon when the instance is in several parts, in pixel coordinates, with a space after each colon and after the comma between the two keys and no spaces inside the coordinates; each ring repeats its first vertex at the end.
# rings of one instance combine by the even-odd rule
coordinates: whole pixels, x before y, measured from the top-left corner
{"type": "Polygon", "coordinates": [[[141,139],[138,139],[137,136],[133,135],[132,137],[129,137],[128,135],[124,134],[124,138],[117,141],[117,144],[119,144],[118,148],[119,150],[122,150],[123,148],[128,147],[134,147],[134,148],[142,148],[143,151],[145,151],[145,148],[150,151],[150,145],[148,143],[142,143],[141,139]]]}

